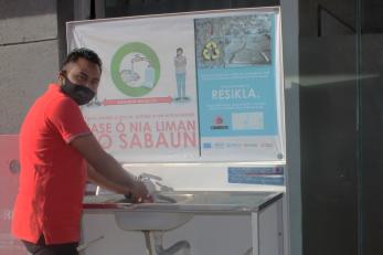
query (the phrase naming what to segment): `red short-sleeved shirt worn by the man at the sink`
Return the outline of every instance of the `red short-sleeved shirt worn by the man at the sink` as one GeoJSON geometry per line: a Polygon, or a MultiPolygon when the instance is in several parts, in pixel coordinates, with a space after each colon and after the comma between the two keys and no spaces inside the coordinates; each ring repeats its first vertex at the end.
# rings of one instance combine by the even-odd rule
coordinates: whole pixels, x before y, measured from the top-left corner
{"type": "Polygon", "coordinates": [[[91,134],[78,105],[51,84],[31,107],[20,131],[20,187],[12,233],[47,244],[79,240],[86,161],[70,142],[91,134]]]}

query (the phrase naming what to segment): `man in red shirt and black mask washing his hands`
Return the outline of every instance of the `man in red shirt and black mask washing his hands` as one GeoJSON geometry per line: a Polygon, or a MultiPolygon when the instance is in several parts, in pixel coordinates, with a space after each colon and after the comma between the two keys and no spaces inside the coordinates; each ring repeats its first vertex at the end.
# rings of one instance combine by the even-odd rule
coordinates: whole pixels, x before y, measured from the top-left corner
{"type": "Polygon", "coordinates": [[[76,255],[86,179],[113,191],[150,201],[135,180],[106,153],[78,105],[95,96],[102,61],[91,50],[68,54],[58,84],[36,99],[20,131],[20,188],[12,233],[36,255],[76,255]]]}

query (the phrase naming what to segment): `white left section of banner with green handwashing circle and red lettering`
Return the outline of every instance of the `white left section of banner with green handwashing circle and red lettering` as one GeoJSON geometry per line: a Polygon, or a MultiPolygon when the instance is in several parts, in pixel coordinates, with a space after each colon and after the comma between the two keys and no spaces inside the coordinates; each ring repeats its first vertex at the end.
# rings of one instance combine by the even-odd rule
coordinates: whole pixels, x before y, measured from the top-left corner
{"type": "Polygon", "coordinates": [[[93,49],[104,62],[97,97],[82,107],[104,149],[121,162],[199,159],[192,19],[74,23],[68,31],[70,49],[93,49]]]}

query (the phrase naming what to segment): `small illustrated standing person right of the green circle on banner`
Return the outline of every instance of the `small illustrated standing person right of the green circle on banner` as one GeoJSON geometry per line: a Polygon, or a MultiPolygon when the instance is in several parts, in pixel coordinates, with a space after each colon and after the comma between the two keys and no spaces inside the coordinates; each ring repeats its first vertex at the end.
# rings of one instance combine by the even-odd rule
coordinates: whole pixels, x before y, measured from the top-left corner
{"type": "Polygon", "coordinates": [[[182,47],[177,49],[174,57],[177,96],[175,99],[185,99],[185,81],[187,81],[187,57],[183,55],[182,47]]]}

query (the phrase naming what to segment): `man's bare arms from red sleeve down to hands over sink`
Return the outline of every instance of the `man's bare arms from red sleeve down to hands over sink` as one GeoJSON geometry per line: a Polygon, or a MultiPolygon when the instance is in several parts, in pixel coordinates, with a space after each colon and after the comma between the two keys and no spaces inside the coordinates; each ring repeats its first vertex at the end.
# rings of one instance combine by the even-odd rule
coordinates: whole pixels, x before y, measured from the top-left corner
{"type": "Polygon", "coordinates": [[[135,180],[135,178],[126,171],[115,158],[108,155],[100,147],[93,134],[78,136],[72,140],[70,145],[73,146],[94,168],[96,174],[91,173],[91,178],[95,178],[96,180],[98,179],[102,182],[104,181],[104,185],[111,185],[114,187],[111,189],[117,189],[118,191],[121,191],[121,193],[128,194],[131,192],[138,202],[149,198],[145,184],[135,180]]]}

